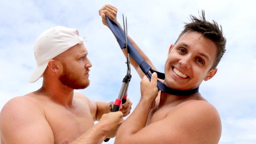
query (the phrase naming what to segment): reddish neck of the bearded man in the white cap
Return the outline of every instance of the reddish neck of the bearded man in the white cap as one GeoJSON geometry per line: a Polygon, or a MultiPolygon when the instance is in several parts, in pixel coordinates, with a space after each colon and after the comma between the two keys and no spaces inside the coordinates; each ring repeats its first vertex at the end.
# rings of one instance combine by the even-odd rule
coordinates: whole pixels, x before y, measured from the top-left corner
{"type": "Polygon", "coordinates": [[[65,107],[72,106],[74,89],[71,89],[62,83],[43,81],[42,87],[37,90],[48,96],[52,101],[65,107]]]}

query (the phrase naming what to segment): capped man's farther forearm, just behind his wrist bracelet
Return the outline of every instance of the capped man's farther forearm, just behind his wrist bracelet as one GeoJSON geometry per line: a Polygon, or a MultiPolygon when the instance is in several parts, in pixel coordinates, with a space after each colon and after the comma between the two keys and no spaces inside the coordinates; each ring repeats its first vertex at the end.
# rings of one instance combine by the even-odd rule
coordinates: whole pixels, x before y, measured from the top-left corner
{"type": "Polygon", "coordinates": [[[109,113],[109,103],[108,102],[96,102],[96,120],[99,121],[103,114],[109,113]]]}

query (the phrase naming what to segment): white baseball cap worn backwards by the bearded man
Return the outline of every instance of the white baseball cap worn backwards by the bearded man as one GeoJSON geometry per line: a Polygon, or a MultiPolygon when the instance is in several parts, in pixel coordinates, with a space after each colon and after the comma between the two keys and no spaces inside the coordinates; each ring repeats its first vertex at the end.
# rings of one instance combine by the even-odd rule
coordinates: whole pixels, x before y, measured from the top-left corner
{"type": "Polygon", "coordinates": [[[85,37],[79,37],[78,30],[64,26],[56,26],[43,32],[35,41],[34,53],[37,68],[28,79],[28,82],[33,83],[42,77],[48,61],[72,46],[85,41],[85,37]]]}

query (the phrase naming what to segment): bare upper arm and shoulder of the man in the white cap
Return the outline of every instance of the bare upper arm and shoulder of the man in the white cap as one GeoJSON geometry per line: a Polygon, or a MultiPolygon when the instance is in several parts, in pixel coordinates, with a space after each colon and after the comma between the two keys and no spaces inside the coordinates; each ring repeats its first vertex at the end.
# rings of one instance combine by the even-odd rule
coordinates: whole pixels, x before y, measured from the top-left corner
{"type": "Polygon", "coordinates": [[[54,136],[45,116],[35,107],[5,105],[0,114],[0,130],[5,144],[54,144],[54,136]]]}

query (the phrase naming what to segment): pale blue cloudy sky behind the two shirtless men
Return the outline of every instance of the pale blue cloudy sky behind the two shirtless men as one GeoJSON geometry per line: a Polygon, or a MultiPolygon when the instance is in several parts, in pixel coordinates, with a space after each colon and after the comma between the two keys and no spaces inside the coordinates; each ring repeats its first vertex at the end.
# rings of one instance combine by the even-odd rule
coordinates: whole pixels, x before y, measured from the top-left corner
{"type": "MultiPolygon", "coordinates": [[[[89,52],[91,84],[77,90],[91,100],[114,101],[126,74],[126,60],[111,31],[101,23],[98,9],[111,4],[128,19],[128,34],[163,72],[169,46],[189,15],[205,10],[227,39],[217,74],[203,81],[200,93],[218,110],[222,121],[219,144],[256,144],[256,2],[248,0],[0,0],[0,109],[16,96],[41,87],[27,79],[36,68],[35,39],[54,26],[79,30],[89,52]]],[[[128,97],[139,102],[140,78],[132,69],[128,97]]],[[[132,109],[132,110],[133,110],[132,109]]],[[[113,144],[112,138],[108,144],[113,144]]]]}

